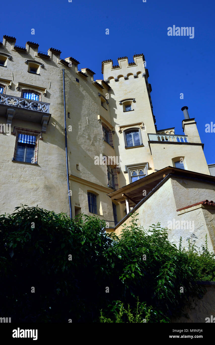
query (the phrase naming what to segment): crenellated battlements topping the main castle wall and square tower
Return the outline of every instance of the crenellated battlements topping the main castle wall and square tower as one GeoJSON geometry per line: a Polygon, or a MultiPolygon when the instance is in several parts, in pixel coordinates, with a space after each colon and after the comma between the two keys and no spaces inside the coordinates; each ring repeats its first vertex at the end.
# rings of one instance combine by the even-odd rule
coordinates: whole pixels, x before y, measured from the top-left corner
{"type": "MultiPolygon", "coordinates": [[[[140,76],[146,77],[146,85],[147,90],[150,94],[151,85],[147,83],[147,77],[149,77],[149,72],[144,67],[145,57],[143,54],[135,54],[133,56],[133,62],[128,61],[127,56],[119,57],[117,59],[118,64],[113,65],[113,60],[104,60],[102,61],[102,73],[104,75],[104,80],[95,80],[93,72],[90,68],[78,68],[80,62],[73,57],[68,58],[61,58],[61,50],[56,48],[49,48],[47,53],[39,51],[39,43],[27,41],[25,43],[25,47],[16,45],[16,38],[8,35],[3,36],[2,44],[0,44],[0,54],[2,51],[2,55],[10,55],[12,56],[12,51],[19,53],[19,58],[23,57],[25,61],[29,59],[33,63],[35,59],[35,63],[38,65],[46,65],[45,60],[53,61],[56,66],[61,65],[62,67],[65,66],[66,69],[69,69],[76,73],[77,78],[81,77],[88,83],[92,83],[98,89],[109,90],[111,86],[109,85],[110,79],[114,79],[118,81],[119,79],[124,78],[130,79],[139,78],[140,76]],[[28,57],[29,55],[29,57],[28,57]],[[59,64],[59,65],[58,65],[59,64]]],[[[29,61],[30,61],[29,60],[29,61]]],[[[26,63],[26,62],[25,62],[26,63]]],[[[46,65],[47,67],[50,66],[49,64],[46,65]]],[[[62,68],[59,66],[60,68],[62,68]]]]}

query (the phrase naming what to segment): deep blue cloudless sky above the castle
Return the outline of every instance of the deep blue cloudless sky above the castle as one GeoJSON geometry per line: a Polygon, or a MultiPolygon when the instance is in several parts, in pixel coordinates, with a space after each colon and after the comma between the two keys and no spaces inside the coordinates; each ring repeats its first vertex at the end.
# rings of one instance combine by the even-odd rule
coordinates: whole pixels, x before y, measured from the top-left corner
{"type": "Polygon", "coordinates": [[[10,0],[4,2],[0,40],[7,34],[20,46],[29,40],[39,43],[40,51],[60,49],[62,58],[72,56],[80,61],[79,68],[92,69],[95,79],[102,78],[102,60],[116,65],[121,56],[132,62],[135,53],[143,53],[157,128],[175,127],[176,134],[183,134],[181,107],[188,106],[211,164],[215,133],[206,133],[205,124],[215,124],[214,10],[212,0],[10,0]],[[194,38],[167,36],[173,25],[194,27],[194,38]]]}

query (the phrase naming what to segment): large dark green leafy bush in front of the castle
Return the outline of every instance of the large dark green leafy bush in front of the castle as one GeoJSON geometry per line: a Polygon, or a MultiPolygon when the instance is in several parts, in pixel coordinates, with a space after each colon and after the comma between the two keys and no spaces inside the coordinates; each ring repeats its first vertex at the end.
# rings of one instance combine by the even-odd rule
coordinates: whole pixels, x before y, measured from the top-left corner
{"type": "Polygon", "coordinates": [[[12,322],[99,322],[115,311],[123,312],[120,322],[135,315],[168,322],[201,293],[197,259],[172,245],[159,224],[149,234],[135,217],[116,237],[103,233],[105,222],[95,216],[71,220],[26,205],[0,216],[1,315],[12,322]]]}

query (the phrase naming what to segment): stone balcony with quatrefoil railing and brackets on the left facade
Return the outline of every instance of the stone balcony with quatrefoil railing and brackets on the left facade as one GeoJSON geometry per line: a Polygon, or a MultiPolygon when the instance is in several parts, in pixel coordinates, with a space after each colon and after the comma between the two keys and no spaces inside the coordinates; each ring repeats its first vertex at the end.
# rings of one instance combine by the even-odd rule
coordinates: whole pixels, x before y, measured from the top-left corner
{"type": "Polygon", "coordinates": [[[50,103],[34,101],[16,96],[0,94],[0,116],[7,117],[7,124],[13,119],[40,123],[45,133],[51,114],[50,103]]]}

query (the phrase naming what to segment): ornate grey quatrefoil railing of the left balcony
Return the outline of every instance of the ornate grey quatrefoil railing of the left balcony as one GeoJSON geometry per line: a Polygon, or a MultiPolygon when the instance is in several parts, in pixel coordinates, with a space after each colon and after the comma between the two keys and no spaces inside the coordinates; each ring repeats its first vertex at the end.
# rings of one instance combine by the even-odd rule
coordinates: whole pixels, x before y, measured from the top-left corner
{"type": "Polygon", "coordinates": [[[49,114],[50,103],[34,101],[32,99],[26,99],[21,97],[9,96],[0,94],[0,105],[6,105],[9,107],[15,107],[20,109],[36,110],[49,114]]]}

